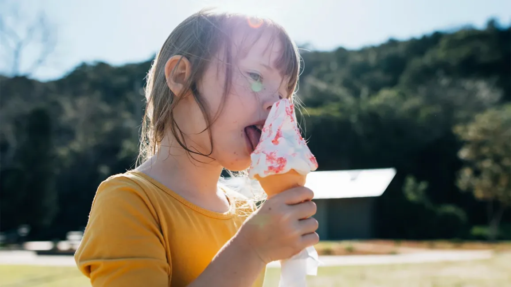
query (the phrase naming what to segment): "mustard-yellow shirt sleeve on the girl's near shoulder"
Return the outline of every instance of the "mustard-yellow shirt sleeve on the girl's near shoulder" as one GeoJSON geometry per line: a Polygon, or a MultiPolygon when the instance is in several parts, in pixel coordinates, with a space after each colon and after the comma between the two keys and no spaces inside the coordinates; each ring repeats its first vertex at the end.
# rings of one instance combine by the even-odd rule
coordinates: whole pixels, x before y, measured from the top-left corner
{"type": "Polygon", "coordinates": [[[140,186],[126,177],[107,179],[92,202],[75,254],[78,268],[93,287],[168,287],[170,258],[160,230],[140,186]]]}

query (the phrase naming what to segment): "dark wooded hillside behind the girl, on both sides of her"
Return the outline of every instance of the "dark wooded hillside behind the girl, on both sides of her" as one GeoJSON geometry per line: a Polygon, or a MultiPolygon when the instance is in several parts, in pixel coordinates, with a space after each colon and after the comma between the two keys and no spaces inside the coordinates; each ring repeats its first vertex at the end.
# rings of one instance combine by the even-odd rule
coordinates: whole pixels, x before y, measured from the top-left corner
{"type": "MultiPolygon", "coordinates": [[[[510,28],[490,21],[302,53],[301,120],[320,169],[398,171],[377,201],[379,237],[474,238],[481,225],[509,235],[498,232],[509,226],[509,198],[489,194],[511,190],[510,49],[510,28]]],[[[134,164],[149,66],[82,64],[51,82],[0,78],[2,231],[29,224],[30,237],[52,239],[85,226],[98,184],[134,164]]]]}

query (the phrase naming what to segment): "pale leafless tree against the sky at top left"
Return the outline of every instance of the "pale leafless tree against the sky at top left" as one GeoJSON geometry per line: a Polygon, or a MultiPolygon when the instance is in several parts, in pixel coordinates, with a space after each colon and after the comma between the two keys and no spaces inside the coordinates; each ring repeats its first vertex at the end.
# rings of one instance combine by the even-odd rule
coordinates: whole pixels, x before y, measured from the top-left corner
{"type": "Polygon", "coordinates": [[[4,3],[0,14],[2,61],[11,76],[30,77],[55,51],[55,27],[44,12],[34,19],[20,14],[18,6],[4,3]]]}

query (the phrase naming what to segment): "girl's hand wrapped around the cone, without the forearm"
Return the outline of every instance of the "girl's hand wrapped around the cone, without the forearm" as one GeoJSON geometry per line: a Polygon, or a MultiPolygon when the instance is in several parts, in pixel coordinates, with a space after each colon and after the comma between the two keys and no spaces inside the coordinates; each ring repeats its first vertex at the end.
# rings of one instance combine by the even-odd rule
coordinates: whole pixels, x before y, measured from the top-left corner
{"type": "Polygon", "coordinates": [[[307,187],[296,187],[269,198],[245,221],[236,240],[263,262],[287,259],[319,242],[316,204],[307,187]]]}

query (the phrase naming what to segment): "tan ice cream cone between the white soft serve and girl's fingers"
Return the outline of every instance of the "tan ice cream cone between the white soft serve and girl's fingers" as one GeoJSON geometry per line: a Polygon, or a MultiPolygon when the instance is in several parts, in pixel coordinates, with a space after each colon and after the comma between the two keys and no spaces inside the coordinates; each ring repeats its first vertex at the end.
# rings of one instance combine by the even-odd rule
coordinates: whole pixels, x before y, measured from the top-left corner
{"type": "Polygon", "coordinates": [[[282,193],[284,190],[304,186],[306,176],[297,173],[295,170],[290,170],[285,174],[269,175],[260,177],[255,175],[255,179],[259,181],[268,197],[282,193]]]}

